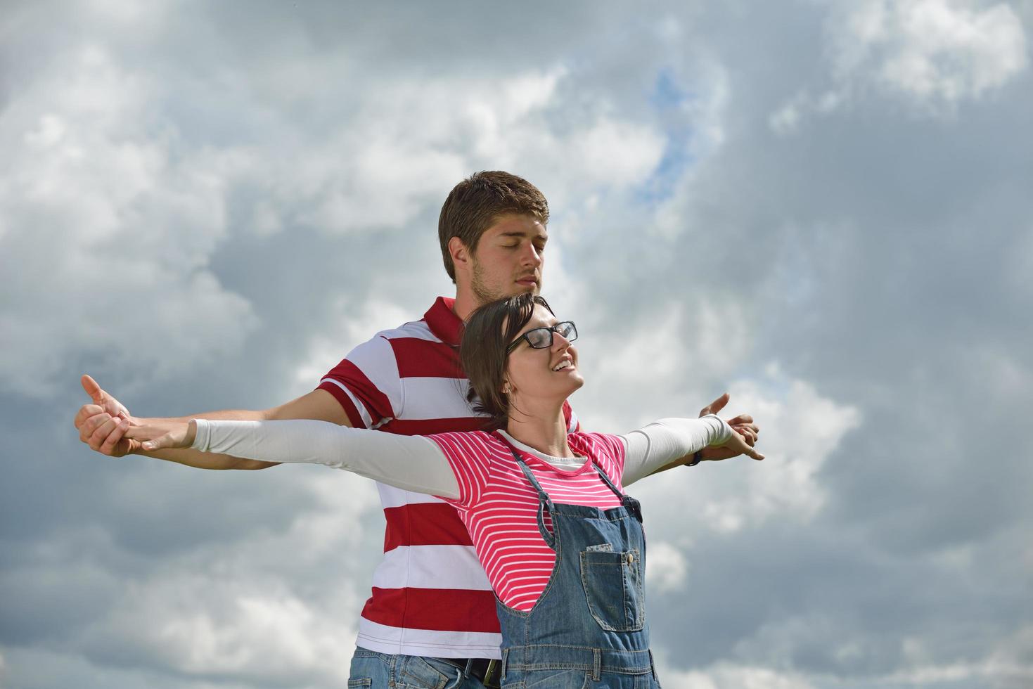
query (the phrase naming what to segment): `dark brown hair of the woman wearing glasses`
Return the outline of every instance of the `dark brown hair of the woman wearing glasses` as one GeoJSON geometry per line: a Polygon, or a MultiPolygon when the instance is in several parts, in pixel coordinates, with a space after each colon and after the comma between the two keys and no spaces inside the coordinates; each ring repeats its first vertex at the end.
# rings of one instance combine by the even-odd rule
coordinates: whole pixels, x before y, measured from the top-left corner
{"type": "Polygon", "coordinates": [[[486,428],[504,428],[509,418],[509,400],[502,393],[506,372],[506,347],[534,315],[534,307],[549,309],[544,297],[530,292],[486,304],[466,321],[459,356],[470,379],[469,401],[473,410],[488,414],[486,428]]]}

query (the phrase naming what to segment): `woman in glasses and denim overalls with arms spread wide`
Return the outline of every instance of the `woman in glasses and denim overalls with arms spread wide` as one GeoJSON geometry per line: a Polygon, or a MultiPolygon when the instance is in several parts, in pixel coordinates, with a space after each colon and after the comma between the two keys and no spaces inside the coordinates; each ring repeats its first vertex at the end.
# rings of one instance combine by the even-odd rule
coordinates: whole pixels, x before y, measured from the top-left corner
{"type": "Polygon", "coordinates": [[[459,509],[496,593],[503,687],[658,687],[641,512],[621,486],[708,445],[763,458],[714,415],[626,436],[568,434],[563,403],[584,384],[575,338],[572,322],[557,322],[531,294],[471,315],[461,359],[490,432],[397,436],[321,421],[194,419],[126,437],[147,440],[145,449],[192,445],[325,464],[441,497],[459,509]]]}

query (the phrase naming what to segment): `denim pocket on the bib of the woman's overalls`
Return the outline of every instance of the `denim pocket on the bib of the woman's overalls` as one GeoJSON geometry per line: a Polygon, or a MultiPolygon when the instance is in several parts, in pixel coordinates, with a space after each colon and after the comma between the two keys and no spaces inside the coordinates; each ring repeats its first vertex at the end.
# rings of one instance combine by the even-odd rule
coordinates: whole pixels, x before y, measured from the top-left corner
{"type": "Polygon", "coordinates": [[[582,587],[588,609],[607,631],[638,631],[646,624],[643,569],[638,551],[581,554],[582,587]]]}

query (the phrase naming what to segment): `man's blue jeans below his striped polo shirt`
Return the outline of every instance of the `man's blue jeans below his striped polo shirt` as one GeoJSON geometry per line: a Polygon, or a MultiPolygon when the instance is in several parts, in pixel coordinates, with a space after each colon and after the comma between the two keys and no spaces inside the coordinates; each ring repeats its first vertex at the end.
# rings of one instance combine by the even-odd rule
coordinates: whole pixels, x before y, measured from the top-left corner
{"type": "MultiPolygon", "coordinates": [[[[457,661],[460,662],[460,661],[457,661]]],[[[348,687],[366,689],[484,689],[463,670],[438,658],[396,656],[355,649],[348,687]]]]}

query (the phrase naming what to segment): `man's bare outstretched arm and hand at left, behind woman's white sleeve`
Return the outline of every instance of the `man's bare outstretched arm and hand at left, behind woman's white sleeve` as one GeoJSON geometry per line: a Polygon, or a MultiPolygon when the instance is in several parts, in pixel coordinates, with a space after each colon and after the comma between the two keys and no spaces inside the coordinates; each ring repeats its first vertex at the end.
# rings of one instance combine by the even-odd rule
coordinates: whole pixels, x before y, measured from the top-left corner
{"type": "Polygon", "coordinates": [[[315,389],[307,395],[291,400],[277,407],[264,410],[224,410],[202,414],[191,414],[177,418],[137,418],[112,395],[97,384],[90,376],[83,376],[83,389],[90,396],[92,403],[85,404],[75,414],[75,428],[79,438],[91,449],[108,457],[125,455],[143,455],[167,462],[177,462],[197,469],[265,469],[276,466],[276,462],[246,460],[229,455],[202,452],[196,449],[160,449],[145,451],[137,440],[125,438],[130,426],[162,426],[171,427],[191,418],[233,419],[233,420],[272,420],[283,418],[311,418],[331,421],[340,426],[351,426],[348,415],[334,396],[322,389],[315,389]]]}

